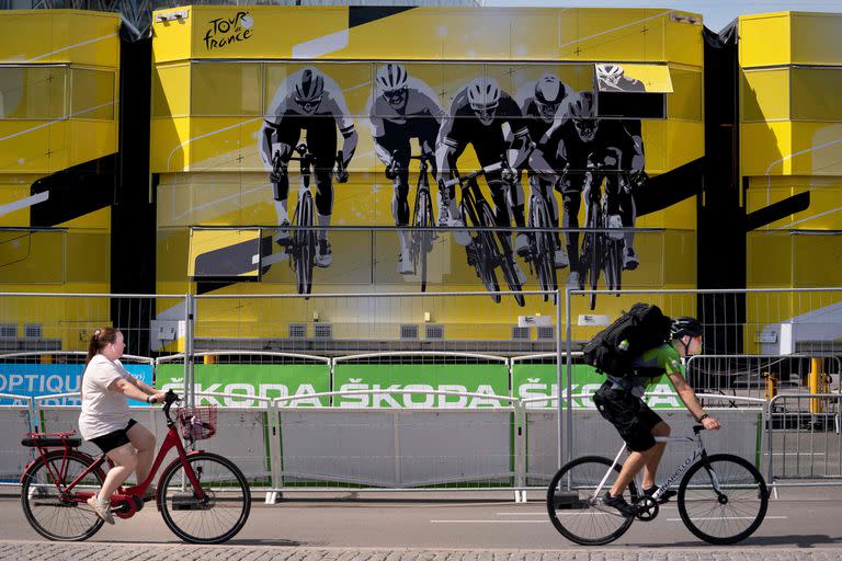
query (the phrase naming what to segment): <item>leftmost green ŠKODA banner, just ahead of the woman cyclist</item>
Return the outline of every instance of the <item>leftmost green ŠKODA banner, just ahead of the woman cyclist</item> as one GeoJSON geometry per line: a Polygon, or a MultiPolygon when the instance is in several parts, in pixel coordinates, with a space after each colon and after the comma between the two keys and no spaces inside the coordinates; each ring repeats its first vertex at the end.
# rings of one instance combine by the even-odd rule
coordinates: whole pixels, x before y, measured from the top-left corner
{"type": "MultiPolygon", "coordinates": [[[[193,367],[196,392],[235,393],[242,398],[197,398],[196,404],[238,408],[265,408],[266,402],[253,399],[295,397],[281,402],[288,407],[327,407],[329,398],[312,397],[329,391],[330,370],[327,364],[197,364],[193,367]]],[[[184,366],[162,364],[156,370],[156,383],[162,391],[184,388],[184,366]]]]}

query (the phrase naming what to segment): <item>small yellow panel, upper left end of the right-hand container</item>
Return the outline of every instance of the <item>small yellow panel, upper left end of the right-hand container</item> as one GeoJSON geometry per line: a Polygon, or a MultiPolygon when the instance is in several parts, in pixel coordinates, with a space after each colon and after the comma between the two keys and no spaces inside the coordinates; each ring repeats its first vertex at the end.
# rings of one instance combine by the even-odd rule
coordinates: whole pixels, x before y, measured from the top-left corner
{"type": "Polygon", "coordinates": [[[743,123],[789,118],[789,69],[746,70],[740,84],[743,123]]]}

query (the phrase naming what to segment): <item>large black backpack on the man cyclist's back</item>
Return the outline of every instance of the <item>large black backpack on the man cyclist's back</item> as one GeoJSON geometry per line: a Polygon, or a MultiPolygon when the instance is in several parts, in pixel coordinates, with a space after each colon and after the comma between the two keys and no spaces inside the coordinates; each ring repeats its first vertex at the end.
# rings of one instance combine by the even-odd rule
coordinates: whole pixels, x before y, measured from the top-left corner
{"type": "Polygon", "coordinates": [[[638,302],[584,346],[584,362],[608,376],[640,375],[633,373],[632,360],[667,342],[671,323],[657,306],[638,302]]]}

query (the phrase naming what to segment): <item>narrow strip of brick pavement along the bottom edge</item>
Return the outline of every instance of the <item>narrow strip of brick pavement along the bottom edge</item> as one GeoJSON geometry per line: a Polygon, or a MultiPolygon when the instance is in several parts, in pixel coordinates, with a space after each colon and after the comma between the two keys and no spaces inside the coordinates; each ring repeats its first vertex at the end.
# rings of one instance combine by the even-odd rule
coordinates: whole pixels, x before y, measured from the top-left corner
{"type": "Polygon", "coordinates": [[[56,543],[0,540],[0,560],[27,561],[837,561],[842,548],[683,548],[681,550],[434,550],[192,546],[186,543],[56,543]]]}

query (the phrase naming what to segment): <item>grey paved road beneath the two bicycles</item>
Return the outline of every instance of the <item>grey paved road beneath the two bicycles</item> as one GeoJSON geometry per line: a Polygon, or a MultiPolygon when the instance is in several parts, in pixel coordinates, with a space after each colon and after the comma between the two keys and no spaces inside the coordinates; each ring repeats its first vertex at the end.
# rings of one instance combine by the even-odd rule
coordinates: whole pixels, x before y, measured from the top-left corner
{"type": "Polygon", "coordinates": [[[538,493],[396,497],[343,495],[255,503],[249,523],[219,547],[181,543],[155,508],[104,527],[91,541],[56,547],[26,524],[14,497],[0,499],[0,559],[90,561],[178,559],[258,561],[823,561],[842,558],[842,489],[782,490],[758,533],[740,546],[709,547],[664,505],[650,524],[635,523],[617,542],[581,548],[549,524],[538,493]],[[446,499],[445,499],[446,497],[446,499]],[[127,545],[128,543],[128,545],[127,545]],[[169,543],[169,545],[168,545],[169,543]],[[178,547],[173,547],[178,545],[178,547]]]}

